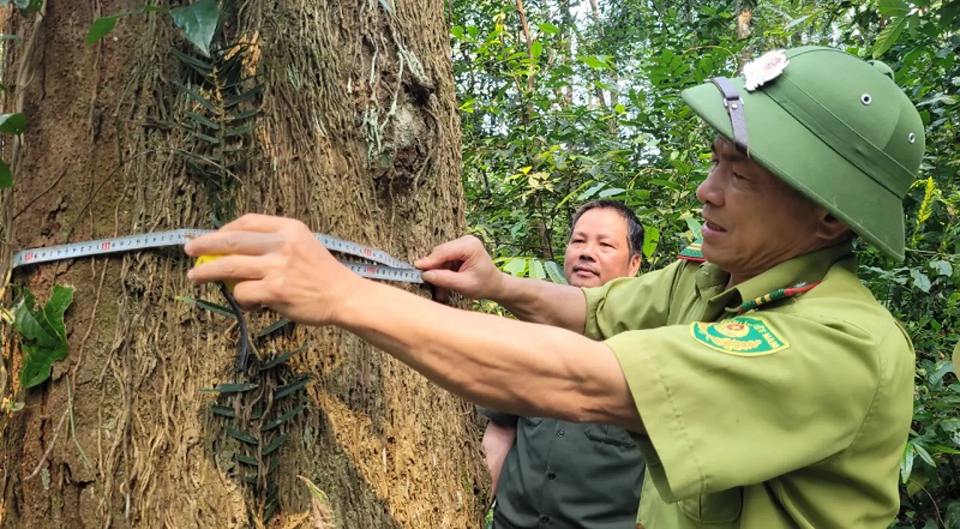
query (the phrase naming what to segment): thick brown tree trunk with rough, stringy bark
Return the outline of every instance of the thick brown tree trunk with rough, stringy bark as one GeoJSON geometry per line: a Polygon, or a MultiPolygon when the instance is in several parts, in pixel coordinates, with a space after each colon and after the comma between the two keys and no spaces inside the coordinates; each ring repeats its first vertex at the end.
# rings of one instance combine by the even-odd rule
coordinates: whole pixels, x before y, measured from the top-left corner
{"type": "MultiPolygon", "coordinates": [[[[4,33],[23,42],[4,41],[4,111],[22,93],[29,119],[2,204],[13,250],[214,228],[212,218],[247,211],[407,261],[464,232],[443,0],[222,1],[233,10],[215,43],[246,43],[242,70],[228,70],[228,56],[204,58],[162,12],[122,17],[84,46],[96,17],[143,3],[48,0],[45,16],[5,13],[4,33]],[[201,75],[171,48],[216,70],[201,75]],[[28,83],[12,85],[20,73],[28,83]],[[219,132],[205,134],[220,142],[198,136],[200,118],[187,111],[215,122],[219,132]],[[256,128],[227,135],[231,123],[256,128]]],[[[174,247],[13,272],[40,302],[54,284],[76,291],[69,353],[42,385],[19,387],[21,347],[4,330],[3,397],[25,407],[4,412],[0,527],[314,527],[299,475],[329,497],[338,527],[479,526],[489,484],[472,405],[347,332],[295,325],[256,340],[264,359],[308,344],[273,370],[254,365],[241,381],[257,389],[202,392],[234,381],[238,331],[178,300],[225,304],[216,288],[186,281],[189,266],[174,247]],[[306,374],[303,389],[273,393],[306,374]]],[[[277,317],[248,319],[255,333],[277,317]]]]}

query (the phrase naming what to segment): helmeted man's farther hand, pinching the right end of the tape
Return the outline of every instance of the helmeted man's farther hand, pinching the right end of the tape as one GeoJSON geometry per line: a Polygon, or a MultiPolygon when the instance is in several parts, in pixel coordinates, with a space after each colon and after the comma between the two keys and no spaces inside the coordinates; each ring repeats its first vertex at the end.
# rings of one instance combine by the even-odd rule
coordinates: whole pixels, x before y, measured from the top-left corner
{"type": "Polygon", "coordinates": [[[503,273],[497,270],[480,239],[468,235],[444,243],[414,262],[423,280],[436,287],[437,298],[453,290],[473,300],[491,300],[500,291],[503,273]]]}

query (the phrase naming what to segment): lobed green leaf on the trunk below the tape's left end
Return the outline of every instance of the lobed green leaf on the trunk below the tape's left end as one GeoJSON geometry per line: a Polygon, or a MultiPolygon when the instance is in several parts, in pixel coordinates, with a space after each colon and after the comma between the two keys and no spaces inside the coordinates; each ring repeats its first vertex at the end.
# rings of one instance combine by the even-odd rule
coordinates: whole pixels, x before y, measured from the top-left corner
{"type": "Polygon", "coordinates": [[[13,328],[23,348],[20,384],[32,388],[50,378],[54,362],[66,358],[69,345],[63,313],[73,302],[73,287],[55,285],[50,300],[42,308],[29,289],[23,288],[12,306],[13,328]]]}

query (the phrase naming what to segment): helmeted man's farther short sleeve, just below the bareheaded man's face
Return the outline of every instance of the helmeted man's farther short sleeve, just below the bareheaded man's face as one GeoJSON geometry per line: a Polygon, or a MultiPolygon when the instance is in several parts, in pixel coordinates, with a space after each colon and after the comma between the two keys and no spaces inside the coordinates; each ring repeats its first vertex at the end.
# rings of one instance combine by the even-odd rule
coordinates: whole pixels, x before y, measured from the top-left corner
{"type": "Polygon", "coordinates": [[[601,340],[627,329],[666,325],[674,286],[685,263],[678,260],[640,277],[620,277],[583,289],[587,297],[584,334],[601,340]]]}

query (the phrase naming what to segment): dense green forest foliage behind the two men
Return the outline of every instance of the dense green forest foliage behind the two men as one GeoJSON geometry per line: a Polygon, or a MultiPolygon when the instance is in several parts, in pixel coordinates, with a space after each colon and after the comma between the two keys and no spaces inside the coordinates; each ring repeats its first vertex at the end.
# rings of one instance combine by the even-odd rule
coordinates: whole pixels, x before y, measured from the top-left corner
{"type": "MultiPolygon", "coordinates": [[[[508,6],[454,3],[471,232],[505,272],[560,282],[573,212],[610,197],[633,208],[645,228],[641,269],[658,269],[699,233],[695,191],[710,158],[712,133],[681,90],[735,75],[744,60],[774,48],[821,44],[883,60],[926,127],[922,177],[904,201],[906,262],[858,248],[861,277],[917,350],[897,523],[960,526],[960,383],[948,358],[960,340],[960,1],[596,6],[524,2],[528,43],[508,6]],[[747,11],[741,37],[738,15],[747,11]],[[537,52],[527,53],[528,44],[537,52]]],[[[502,313],[490,302],[478,306],[502,313]]]]}

